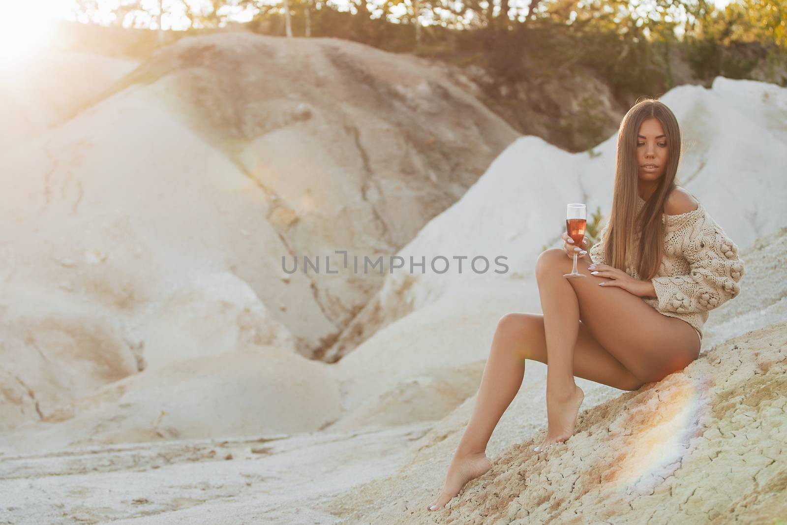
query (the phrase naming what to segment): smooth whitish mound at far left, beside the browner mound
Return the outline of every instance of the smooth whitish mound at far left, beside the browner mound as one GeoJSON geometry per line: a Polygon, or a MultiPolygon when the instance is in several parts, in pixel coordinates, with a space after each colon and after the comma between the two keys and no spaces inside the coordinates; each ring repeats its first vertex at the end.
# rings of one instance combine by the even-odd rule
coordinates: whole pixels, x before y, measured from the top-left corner
{"type": "MultiPolygon", "coordinates": [[[[288,289],[310,294],[310,287],[297,275],[288,279],[290,283],[283,282],[273,261],[266,258],[275,246],[285,249],[260,215],[263,203],[253,184],[226,157],[168,119],[150,99],[122,93],[108,103],[111,109],[108,104],[99,105],[45,135],[42,142],[28,143],[3,159],[0,174],[9,191],[0,200],[6,224],[13,226],[0,232],[8,256],[0,287],[14,287],[23,296],[31,295],[27,290],[53,290],[57,301],[50,302],[54,311],[48,315],[54,318],[81,312],[78,322],[83,324],[93,323],[96,317],[109,319],[109,336],[137,349],[140,363],[172,359],[176,355],[172,346],[183,345],[188,338],[192,346],[204,345],[191,349],[190,355],[216,351],[213,342],[220,338],[224,338],[222,348],[234,349],[249,340],[244,335],[249,331],[262,335],[257,343],[282,344],[294,351],[294,338],[268,315],[249,286],[278,287],[282,297],[288,289]],[[129,124],[107,128],[108,118],[126,119],[129,124]],[[183,150],[150,141],[145,135],[150,126],[177,137],[183,150]],[[157,168],[139,165],[140,152],[157,168]],[[184,165],[194,161],[202,166],[202,176],[183,171],[184,165]],[[256,232],[257,242],[249,242],[250,231],[256,232]],[[241,281],[238,267],[246,272],[254,268],[256,278],[241,281]],[[222,274],[224,290],[217,297],[211,280],[222,274]],[[179,294],[191,294],[191,298],[179,299],[179,294]],[[195,340],[189,333],[157,333],[162,320],[175,321],[177,316],[173,325],[188,329],[204,316],[198,309],[183,307],[176,316],[170,314],[167,309],[172,309],[172,301],[181,306],[184,301],[201,301],[203,309],[216,301],[225,310],[242,312],[253,306],[257,311],[213,318],[212,337],[195,340]],[[257,327],[242,326],[249,322],[257,327]]],[[[42,299],[32,296],[27,301],[40,304],[42,299]]],[[[290,301],[293,308],[298,305],[297,298],[290,301]]],[[[310,305],[321,316],[320,309],[310,305]]],[[[310,305],[303,305],[301,311],[309,312],[310,305]]],[[[287,303],[274,302],[273,306],[286,308],[287,303]]],[[[6,307],[13,319],[21,305],[9,301],[6,307]]],[[[24,334],[41,322],[36,320],[41,310],[35,305],[29,308],[31,315],[17,324],[23,341],[30,337],[24,334]]],[[[330,330],[332,324],[322,319],[324,329],[330,330]]],[[[320,327],[317,319],[313,323],[320,327]]],[[[52,350],[65,354],[70,347],[65,341],[52,350]]],[[[9,356],[4,366],[16,369],[36,396],[57,391],[77,399],[83,394],[42,379],[40,368],[23,366],[25,353],[18,346],[3,345],[2,352],[9,356]]],[[[59,363],[42,362],[41,367],[53,368],[52,373],[68,378],[65,381],[78,381],[83,374],[76,361],[69,366],[67,358],[59,363]]],[[[127,369],[127,373],[140,369],[127,369]]]]}

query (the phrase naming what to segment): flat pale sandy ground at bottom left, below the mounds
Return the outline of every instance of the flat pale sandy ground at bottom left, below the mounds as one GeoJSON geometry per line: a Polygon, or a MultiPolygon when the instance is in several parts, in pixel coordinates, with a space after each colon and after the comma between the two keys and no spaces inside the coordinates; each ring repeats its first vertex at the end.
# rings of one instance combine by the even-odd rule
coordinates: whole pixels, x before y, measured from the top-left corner
{"type": "Polygon", "coordinates": [[[428,427],[0,453],[0,523],[334,523],[312,503],[393,471],[428,427]]]}

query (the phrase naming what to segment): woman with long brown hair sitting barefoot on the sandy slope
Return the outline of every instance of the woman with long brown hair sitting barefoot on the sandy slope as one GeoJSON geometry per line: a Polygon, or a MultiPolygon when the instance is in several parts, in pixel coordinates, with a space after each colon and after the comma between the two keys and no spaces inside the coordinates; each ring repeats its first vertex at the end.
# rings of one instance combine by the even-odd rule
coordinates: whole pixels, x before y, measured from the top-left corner
{"type": "Polygon", "coordinates": [[[697,358],[708,311],[740,293],[744,261],[704,206],[674,183],[680,157],[671,110],[652,98],[637,102],[620,124],[612,210],[589,250],[593,264],[587,239],[574,246],[566,233],[563,248],[538,257],[543,315],[512,312],[498,321],[475,408],[430,510],[492,467],[486,443],[519,391],[525,360],[548,364],[539,452],[574,434],[583,397],[575,376],[637,390],[697,358]],[[589,279],[563,277],[575,251],[589,279]]]}

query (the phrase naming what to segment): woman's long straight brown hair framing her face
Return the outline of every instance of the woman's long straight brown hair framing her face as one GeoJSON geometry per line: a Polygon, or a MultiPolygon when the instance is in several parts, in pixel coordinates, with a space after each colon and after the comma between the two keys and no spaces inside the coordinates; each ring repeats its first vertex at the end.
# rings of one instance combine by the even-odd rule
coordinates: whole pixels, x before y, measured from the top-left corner
{"type": "Polygon", "coordinates": [[[637,268],[640,279],[652,279],[659,270],[662,257],[664,225],[661,215],[667,195],[679,186],[675,174],[682,154],[681,131],[674,113],[656,98],[637,100],[618,130],[618,151],[615,157],[615,188],[612,196],[612,211],[604,236],[604,259],[615,268],[637,268]],[[637,186],[639,166],[637,162],[637,134],[643,120],[659,119],[667,135],[667,165],[659,179],[656,190],[642,206],[637,216],[637,186]],[[634,225],[634,227],[632,227],[634,225]],[[634,254],[636,236],[639,238],[637,253],[634,254]],[[634,255],[633,264],[630,261],[634,255]]]}

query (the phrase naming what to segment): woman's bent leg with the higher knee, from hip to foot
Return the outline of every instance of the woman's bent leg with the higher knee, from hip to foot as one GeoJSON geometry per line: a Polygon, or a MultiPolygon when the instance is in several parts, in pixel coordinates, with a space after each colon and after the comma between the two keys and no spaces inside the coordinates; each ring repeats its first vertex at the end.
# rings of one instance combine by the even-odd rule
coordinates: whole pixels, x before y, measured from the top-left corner
{"type": "Polygon", "coordinates": [[[546,250],[536,263],[549,359],[549,427],[537,451],[574,434],[583,397],[574,383],[577,371],[573,368],[580,320],[608,353],[643,381],[658,381],[685,368],[700,350],[691,325],[663,316],[626,290],[599,287],[610,279],[586,273],[587,261],[578,261],[578,269],[588,278],[565,279],[562,274],[570,263],[560,249],[546,250]]]}

